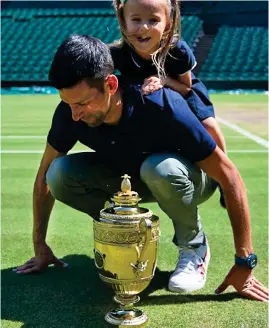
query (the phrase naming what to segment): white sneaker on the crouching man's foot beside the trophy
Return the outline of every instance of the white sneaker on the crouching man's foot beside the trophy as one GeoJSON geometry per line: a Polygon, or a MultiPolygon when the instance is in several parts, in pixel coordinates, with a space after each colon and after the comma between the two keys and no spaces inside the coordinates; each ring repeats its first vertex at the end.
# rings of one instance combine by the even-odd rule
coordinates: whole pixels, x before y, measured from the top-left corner
{"type": "Polygon", "coordinates": [[[176,269],[169,279],[172,292],[186,293],[204,287],[210,261],[208,241],[197,248],[180,247],[176,269]]]}

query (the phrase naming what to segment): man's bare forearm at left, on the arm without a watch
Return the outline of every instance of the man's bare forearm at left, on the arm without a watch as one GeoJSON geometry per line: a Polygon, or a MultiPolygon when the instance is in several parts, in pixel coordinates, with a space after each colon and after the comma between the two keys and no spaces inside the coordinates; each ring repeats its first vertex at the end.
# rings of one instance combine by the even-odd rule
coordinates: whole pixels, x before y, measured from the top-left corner
{"type": "Polygon", "coordinates": [[[33,243],[35,255],[42,253],[46,245],[46,235],[50,214],[54,205],[54,198],[44,181],[35,182],[33,193],[33,243]]]}

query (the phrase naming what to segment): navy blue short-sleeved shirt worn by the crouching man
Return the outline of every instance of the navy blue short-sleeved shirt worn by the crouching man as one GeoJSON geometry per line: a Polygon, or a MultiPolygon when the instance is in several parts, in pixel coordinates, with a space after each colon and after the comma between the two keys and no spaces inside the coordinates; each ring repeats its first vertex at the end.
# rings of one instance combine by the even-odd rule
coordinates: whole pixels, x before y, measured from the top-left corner
{"type": "Polygon", "coordinates": [[[117,125],[91,128],[73,121],[69,105],[61,102],[53,116],[47,141],[68,152],[77,141],[95,150],[109,165],[137,173],[152,153],[177,152],[192,162],[207,158],[216,143],[177,92],[162,88],[142,96],[141,85],[123,87],[123,114],[117,125]]]}

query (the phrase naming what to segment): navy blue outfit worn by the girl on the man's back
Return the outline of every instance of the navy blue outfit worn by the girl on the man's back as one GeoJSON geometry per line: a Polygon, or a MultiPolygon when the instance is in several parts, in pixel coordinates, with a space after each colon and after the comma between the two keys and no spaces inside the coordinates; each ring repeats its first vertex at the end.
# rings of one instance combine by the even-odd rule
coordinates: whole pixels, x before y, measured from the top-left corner
{"type": "MultiPolygon", "coordinates": [[[[124,43],[122,47],[110,47],[115,70],[119,71],[126,79],[144,81],[151,75],[157,74],[157,69],[152,60],[140,57],[133,48],[124,43]]],[[[174,79],[191,71],[196,66],[195,56],[184,41],[178,41],[175,47],[169,50],[164,68],[166,74],[174,79]]],[[[195,116],[203,121],[208,117],[215,117],[214,107],[211,103],[206,86],[191,72],[192,89],[184,97],[195,116]]]]}

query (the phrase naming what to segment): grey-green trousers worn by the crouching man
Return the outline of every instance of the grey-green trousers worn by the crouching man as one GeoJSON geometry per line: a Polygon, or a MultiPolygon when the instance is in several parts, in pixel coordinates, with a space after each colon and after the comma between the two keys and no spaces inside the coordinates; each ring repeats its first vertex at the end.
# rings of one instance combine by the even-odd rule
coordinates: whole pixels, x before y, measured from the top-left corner
{"type": "MultiPolygon", "coordinates": [[[[120,190],[120,175],[101,163],[96,153],[84,152],[56,158],[46,178],[55,199],[96,218],[105,201],[120,190]]],[[[197,206],[214,193],[217,183],[198,166],[176,153],[154,154],[141,165],[140,178],[133,176],[131,183],[143,200],[157,201],[172,220],[176,245],[203,242],[197,206]]]]}

